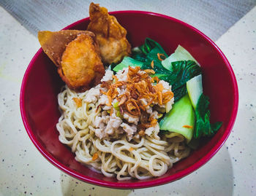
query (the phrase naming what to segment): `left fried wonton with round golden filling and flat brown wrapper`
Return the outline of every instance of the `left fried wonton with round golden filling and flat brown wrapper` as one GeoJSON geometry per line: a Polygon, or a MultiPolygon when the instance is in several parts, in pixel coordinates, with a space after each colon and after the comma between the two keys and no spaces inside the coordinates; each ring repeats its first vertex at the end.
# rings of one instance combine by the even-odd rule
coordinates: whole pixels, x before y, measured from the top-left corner
{"type": "Polygon", "coordinates": [[[105,74],[99,47],[90,31],[39,31],[42,50],[58,67],[61,79],[82,92],[99,84],[105,74]]]}

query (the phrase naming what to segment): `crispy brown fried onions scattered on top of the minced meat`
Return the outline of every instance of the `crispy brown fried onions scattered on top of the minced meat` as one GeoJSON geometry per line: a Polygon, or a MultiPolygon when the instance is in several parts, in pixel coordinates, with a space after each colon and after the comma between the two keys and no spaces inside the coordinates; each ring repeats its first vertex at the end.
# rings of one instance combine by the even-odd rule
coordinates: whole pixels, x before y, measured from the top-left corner
{"type": "MultiPolygon", "coordinates": [[[[151,104],[166,104],[173,98],[173,92],[170,90],[164,90],[164,87],[159,83],[158,77],[150,77],[149,74],[155,74],[153,69],[146,69],[140,71],[140,67],[130,67],[127,74],[127,82],[118,81],[116,76],[113,76],[113,82],[103,82],[102,87],[107,88],[107,91],[100,92],[108,96],[107,106],[111,106],[113,99],[117,99],[121,114],[126,112],[132,117],[140,117],[140,130],[143,131],[146,128],[157,125],[157,119],[149,117],[146,113],[146,109],[151,104]],[[156,85],[152,85],[157,83],[156,85]],[[123,94],[118,95],[118,87],[125,85],[126,90],[123,94]],[[163,93],[164,92],[164,93],[163,93]],[[146,100],[147,104],[141,99],[146,100]]],[[[113,106],[111,106],[111,109],[113,106]]],[[[111,110],[113,111],[113,109],[111,110]]],[[[111,112],[112,113],[112,112],[111,112]]]]}

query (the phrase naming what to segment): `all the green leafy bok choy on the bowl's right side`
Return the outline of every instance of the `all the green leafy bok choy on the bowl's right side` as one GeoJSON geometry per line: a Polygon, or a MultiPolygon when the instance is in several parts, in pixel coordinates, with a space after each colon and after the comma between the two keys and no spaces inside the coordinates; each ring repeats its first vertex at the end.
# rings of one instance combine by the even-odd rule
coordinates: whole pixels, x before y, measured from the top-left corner
{"type": "MultiPolygon", "coordinates": [[[[146,38],[143,45],[132,49],[132,58],[125,57],[117,66],[112,64],[110,68],[113,71],[119,71],[129,66],[140,66],[141,69],[154,69],[155,74],[151,75],[151,77],[157,76],[159,79],[165,80],[172,85],[175,104],[170,112],[159,119],[159,125],[161,128],[160,133],[164,134],[167,131],[181,133],[187,138],[187,141],[190,141],[193,135],[192,141],[195,144],[191,144],[192,146],[197,146],[200,137],[213,136],[222,126],[222,122],[216,122],[211,125],[210,111],[208,109],[208,97],[203,95],[203,93],[200,95],[200,90],[198,91],[198,95],[200,95],[199,99],[198,95],[190,95],[194,105],[196,104],[194,102],[198,100],[195,107],[195,114],[192,108],[192,103],[189,100],[189,96],[186,95],[187,82],[200,75],[201,68],[195,58],[193,58],[192,55],[190,55],[189,52],[181,46],[178,46],[176,51],[170,55],[170,57],[162,61],[159,60],[157,55],[158,53],[167,57],[165,50],[163,50],[160,44],[155,42],[153,39],[146,38]],[[152,61],[154,62],[154,67],[152,67],[151,64],[152,61]],[[194,101],[193,98],[195,99],[194,101]],[[187,112],[180,110],[181,108],[187,109],[187,112]],[[187,119],[187,125],[192,125],[193,119],[196,119],[195,126],[189,129],[180,126],[181,122],[184,122],[184,119],[187,119]]],[[[198,85],[191,83],[197,82],[194,80],[188,82],[192,85],[190,89],[195,89],[194,86],[196,85],[197,87],[198,85]]],[[[118,107],[114,106],[114,108],[116,111],[119,111],[118,107]]],[[[184,123],[182,125],[184,125],[184,123]]]]}

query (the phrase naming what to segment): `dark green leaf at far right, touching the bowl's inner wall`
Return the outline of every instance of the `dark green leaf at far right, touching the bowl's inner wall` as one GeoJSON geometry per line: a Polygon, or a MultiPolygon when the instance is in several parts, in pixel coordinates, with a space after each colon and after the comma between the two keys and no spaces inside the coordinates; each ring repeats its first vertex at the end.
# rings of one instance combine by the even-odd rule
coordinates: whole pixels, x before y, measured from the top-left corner
{"type": "Polygon", "coordinates": [[[202,136],[214,136],[214,134],[222,126],[222,122],[216,122],[213,125],[210,123],[210,111],[208,109],[209,98],[205,95],[200,95],[195,109],[195,131],[194,138],[200,138],[202,136]]]}

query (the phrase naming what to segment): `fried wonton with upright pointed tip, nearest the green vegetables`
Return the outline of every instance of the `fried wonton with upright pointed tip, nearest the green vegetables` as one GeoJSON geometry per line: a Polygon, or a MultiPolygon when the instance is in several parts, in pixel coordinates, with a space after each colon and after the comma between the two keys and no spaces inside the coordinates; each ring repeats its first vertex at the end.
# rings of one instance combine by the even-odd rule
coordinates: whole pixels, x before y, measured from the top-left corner
{"type": "Polygon", "coordinates": [[[124,56],[130,55],[131,45],[126,38],[127,31],[116,17],[109,15],[105,7],[94,3],[90,4],[89,14],[91,22],[87,30],[96,35],[102,62],[107,65],[118,63],[124,56]]]}

